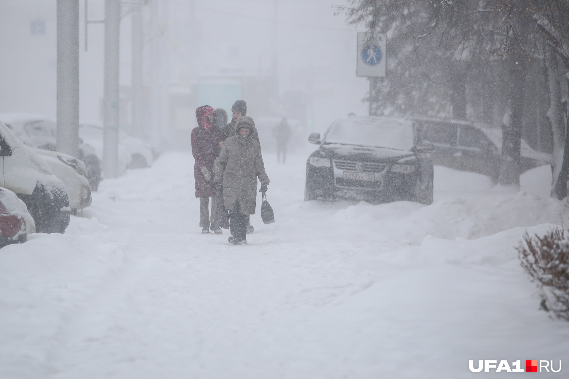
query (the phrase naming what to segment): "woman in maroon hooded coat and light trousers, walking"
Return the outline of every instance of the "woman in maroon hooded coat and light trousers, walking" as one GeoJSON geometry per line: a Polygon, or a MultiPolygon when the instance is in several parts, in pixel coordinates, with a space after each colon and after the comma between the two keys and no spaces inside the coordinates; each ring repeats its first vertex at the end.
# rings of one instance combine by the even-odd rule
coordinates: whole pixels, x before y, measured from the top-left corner
{"type": "Polygon", "coordinates": [[[208,105],[196,109],[197,127],[192,130],[192,155],[195,159],[193,177],[196,181],[196,197],[200,198],[200,226],[202,233],[221,234],[216,211],[219,201],[213,186],[213,162],[221,152],[221,132],[215,127],[215,110],[208,105]],[[211,219],[208,213],[212,198],[211,219]],[[210,221],[211,220],[211,221],[210,221]]]}

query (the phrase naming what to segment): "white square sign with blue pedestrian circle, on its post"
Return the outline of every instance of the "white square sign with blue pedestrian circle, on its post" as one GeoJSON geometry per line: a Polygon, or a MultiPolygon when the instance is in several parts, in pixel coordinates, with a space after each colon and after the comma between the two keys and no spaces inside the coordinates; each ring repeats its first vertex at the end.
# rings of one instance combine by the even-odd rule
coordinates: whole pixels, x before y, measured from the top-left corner
{"type": "Polygon", "coordinates": [[[357,34],[357,69],[356,75],[369,78],[369,115],[379,115],[378,90],[380,79],[385,77],[385,40],[384,34],[371,38],[367,33],[357,34]]]}

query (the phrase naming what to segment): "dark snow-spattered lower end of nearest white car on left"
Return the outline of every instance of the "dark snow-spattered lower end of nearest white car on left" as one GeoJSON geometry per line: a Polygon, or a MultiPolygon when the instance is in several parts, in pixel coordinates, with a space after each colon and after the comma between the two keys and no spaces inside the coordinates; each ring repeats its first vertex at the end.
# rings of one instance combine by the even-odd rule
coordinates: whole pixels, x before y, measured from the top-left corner
{"type": "Polygon", "coordinates": [[[36,232],[62,234],[65,232],[71,215],[61,210],[60,202],[54,202],[43,186],[36,187],[31,195],[18,194],[18,197],[26,204],[28,213],[34,219],[36,232]]]}

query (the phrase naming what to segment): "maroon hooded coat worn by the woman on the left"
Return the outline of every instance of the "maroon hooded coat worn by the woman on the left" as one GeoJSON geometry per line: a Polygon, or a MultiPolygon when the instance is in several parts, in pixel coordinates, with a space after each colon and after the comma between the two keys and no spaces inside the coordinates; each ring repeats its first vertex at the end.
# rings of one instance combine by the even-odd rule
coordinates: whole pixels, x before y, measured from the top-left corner
{"type": "Polygon", "coordinates": [[[196,197],[211,197],[214,195],[213,188],[213,162],[219,156],[221,147],[221,132],[215,126],[215,119],[209,122],[207,116],[215,115],[215,110],[208,105],[196,109],[198,126],[192,130],[192,155],[195,159],[193,164],[193,177],[196,181],[196,197]],[[211,180],[206,181],[201,172],[201,166],[207,167],[211,174],[211,180]]]}

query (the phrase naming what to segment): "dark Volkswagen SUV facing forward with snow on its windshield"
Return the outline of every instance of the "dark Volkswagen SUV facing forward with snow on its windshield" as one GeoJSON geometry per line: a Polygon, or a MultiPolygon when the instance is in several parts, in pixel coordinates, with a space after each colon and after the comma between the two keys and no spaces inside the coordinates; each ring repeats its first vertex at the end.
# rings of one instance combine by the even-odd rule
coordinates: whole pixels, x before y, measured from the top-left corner
{"type": "Polygon", "coordinates": [[[412,120],[351,116],[335,120],[306,162],[304,200],[432,203],[431,143],[419,144],[412,120]]]}

